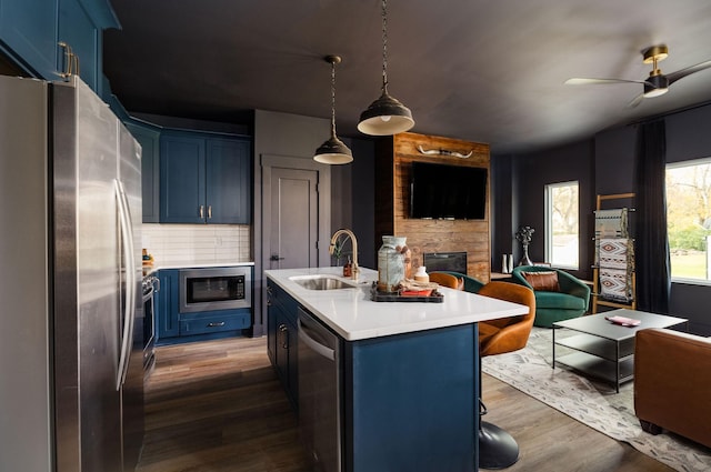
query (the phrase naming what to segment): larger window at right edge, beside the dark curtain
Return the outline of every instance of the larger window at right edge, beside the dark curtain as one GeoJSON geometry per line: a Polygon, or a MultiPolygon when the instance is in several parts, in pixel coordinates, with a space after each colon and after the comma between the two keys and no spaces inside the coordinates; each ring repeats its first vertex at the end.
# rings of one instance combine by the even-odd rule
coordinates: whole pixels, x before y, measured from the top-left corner
{"type": "Polygon", "coordinates": [[[711,159],[667,165],[667,229],[672,279],[711,280],[711,159]]]}

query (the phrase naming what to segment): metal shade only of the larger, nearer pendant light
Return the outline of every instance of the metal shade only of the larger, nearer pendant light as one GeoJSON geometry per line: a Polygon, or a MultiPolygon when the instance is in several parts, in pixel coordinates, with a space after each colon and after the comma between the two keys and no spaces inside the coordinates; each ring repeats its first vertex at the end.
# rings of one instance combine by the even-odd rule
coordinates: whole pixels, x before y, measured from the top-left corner
{"type": "Polygon", "coordinates": [[[382,96],[360,114],[358,130],[370,135],[405,132],[414,125],[412,112],[383,90],[382,96]]]}

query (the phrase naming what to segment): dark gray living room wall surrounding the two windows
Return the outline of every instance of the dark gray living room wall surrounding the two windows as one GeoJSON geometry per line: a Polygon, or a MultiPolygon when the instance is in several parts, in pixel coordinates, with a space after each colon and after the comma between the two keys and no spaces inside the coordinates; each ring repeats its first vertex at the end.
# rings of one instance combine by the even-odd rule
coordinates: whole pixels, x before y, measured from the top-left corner
{"type": "MultiPolygon", "coordinates": [[[[680,162],[711,157],[711,106],[670,113],[667,123],[667,160],[680,162]]],[[[548,183],[578,180],[580,182],[580,271],[577,275],[590,279],[593,258],[592,235],[594,231],[593,210],[597,194],[614,194],[634,191],[634,148],[637,125],[620,125],[599,132],[589,140],[571,143],[547,151],[529,154],[492,157],[492,172],[510,174],[511,185],[505,178],[494,174],[494,204],[511,205],[495,208],[493,229],[492,263],[500,265],[500,253],[505,248],[511,231],[521,224],[535,228],[530,248],[531,259],[541,260],[544,250],[544,187],[548,183]],[[510,167],[507,164],[510,161],[510,167]],[[504,182],[501,182],[504,180],[504,182]],[[510,210],[509,210],[510,209],[510,210]],[[511,224],[508,223],[508,214],[511,224]],[[502,221],[504,220],[504,221],[502,221]]],[[[517,261],[520,248],[514,245],[517,261]]],[[[573,272],[574,273],[574,272],[573,272]]],[[[711,335],[711,314],[705,308],[711,298],[711,287],[701,284],[672,283],[670,312],[688,318],[690,331],[711,335]]]]}

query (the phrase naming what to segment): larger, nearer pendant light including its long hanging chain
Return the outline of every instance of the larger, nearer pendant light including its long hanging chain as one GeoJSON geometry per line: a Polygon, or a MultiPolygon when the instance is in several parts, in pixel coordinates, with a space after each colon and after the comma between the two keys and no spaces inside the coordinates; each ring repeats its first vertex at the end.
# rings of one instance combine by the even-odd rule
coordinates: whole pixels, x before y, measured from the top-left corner
{"type": "Polygon", "coordinates": [[[364,134],[388,135],[414,125],[412,112],[388,93],[388,2],[382,0],[382,94],[360,114],[358,130],[364,134]]]}

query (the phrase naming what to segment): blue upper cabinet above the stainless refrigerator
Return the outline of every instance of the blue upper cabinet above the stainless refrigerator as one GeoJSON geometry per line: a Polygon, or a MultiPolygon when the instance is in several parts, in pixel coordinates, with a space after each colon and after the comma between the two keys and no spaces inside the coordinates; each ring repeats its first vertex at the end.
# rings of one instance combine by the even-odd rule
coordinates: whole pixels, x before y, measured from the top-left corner
{"type": "Polygon", "coordinates": [[[78,73],[100,97],[102,32],[109,28],[120,24],[108,0],[0,0],[0,49],[37,78],[78,73]]]}

